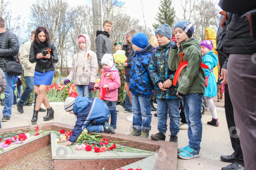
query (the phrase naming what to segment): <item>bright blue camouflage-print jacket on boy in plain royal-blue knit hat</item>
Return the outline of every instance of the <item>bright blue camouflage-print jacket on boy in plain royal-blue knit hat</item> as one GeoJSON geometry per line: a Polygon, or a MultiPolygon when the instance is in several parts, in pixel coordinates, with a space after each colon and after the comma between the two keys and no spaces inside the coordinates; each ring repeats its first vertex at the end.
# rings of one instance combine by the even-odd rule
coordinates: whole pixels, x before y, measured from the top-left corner
{"type": "Polygon", "coordinates": [[[152,95],[152,87],[154,87],[149,76],[149,60],[154,48],[151,44],[142,50],[135,52],[131,57],[131,79],[129,89],[132,94],[137,94],[143,97],[152,95]]]}

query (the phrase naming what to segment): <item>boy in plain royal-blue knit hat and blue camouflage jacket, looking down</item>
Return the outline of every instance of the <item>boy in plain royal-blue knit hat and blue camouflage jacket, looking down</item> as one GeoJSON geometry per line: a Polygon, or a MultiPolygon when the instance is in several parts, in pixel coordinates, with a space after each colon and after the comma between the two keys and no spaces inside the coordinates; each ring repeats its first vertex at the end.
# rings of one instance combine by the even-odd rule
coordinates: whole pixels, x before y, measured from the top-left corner
{"type": "Polygon", "coordinates": [[[145,33],[135,34],[131,42],[135,54],[131,57],[131,78],[129,89],[132,98],[132,136],[149,137],[151,130],[151,105],[152,81],[149,77],[149,60],[153,53],[153,46],[148,43],[145,33]],[[142,120],[143,117],[143,120],[142,120]]]}

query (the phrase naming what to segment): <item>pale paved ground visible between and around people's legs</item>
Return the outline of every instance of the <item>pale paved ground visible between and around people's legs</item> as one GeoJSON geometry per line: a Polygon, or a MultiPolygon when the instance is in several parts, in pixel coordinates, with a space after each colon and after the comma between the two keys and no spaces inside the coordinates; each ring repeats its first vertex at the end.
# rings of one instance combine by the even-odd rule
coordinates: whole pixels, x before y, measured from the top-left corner
{"type": "MultiPolygon", "coordinates": [[[[203,169],[203,170],[212,170],[212,169],[221,169],[229,165],[229,163],[222,162],[220,160],[221,155],[229,155],[233,153],[233,149],[231,147],[229,131],[227,127],[225,110],[224,110],[224,99],[223,101],[216,102],[217,98],[214,98],[214,103],[217,107],[217,117],[220,123],[219,127],[213,127],[207,125],[207,122],[211,120],[210,115],[203,115],[203,137],[201,142],[201,156],[199,158],[194,158],[191,160],[182,160],[178,159],[178,169],[179,170],[190,170],[190,169],[203,169]]],[[[67,123],[71,125],[75,125],[76,117],[74,115],[70,115],[65,112],[63,104],[61,103],[52,103],[52,108],[55,110],[54,119],[47,122],[61,122],[67,123]]],[[[44,107],[44,106],[42,106],[44,107]]],[[[14,105],[12,107],[12,116],[10,121],[2,122],[2,128],[8,127],[18,127],[31,125],[31,119],[33,115],[33,106],[24,106],[24,113],[20,114],[17,111],[17,107],[14,105]]],[[[3,106],[0,106],[0,110],[3,110],[3,106]]],[[[132,122],[126,121],[126,116],[129,116],[130,113],[124,113],[124,109],[122,106],[117,105],[117,110],[119,110],[119,114],[117,115],[117,129],[116,133],[129,134],[132,131],[132,122]]],[[[154,115],[154,111],[152,111],[152,115],[154,115]]],[[[43,117],[46,115],[46,112],[39,112],[38,116],[38,124],[45,123],[43,121],[43,117]]],[[[2,119],[3,115],[0,116],[2,119]]],[[[169,124],[169,120],[168,123],[169,124]]],[[[158,133],[157,131],[157,117],[152,116],[151,122],[152,130],[149,133],[151,134],[158,133]]],[[[169,127],[168,127],[169,128],[169,127]]],[[[3,130],[2,129],[2,130],[3,130]]],[[[1,131],[1,130],[0,130],[1,131]]],[[[166,133],[166,141],[169,140],[168,135],[166,133]]],[[[149,139],[150,140],[150,139],[149,139]]],[[[187,130],[180,130],[178,134],[178,147],[184,147],[188,144],[187,130]]],[[[167,153],[168,154],[168,153],[167,153]]]]}

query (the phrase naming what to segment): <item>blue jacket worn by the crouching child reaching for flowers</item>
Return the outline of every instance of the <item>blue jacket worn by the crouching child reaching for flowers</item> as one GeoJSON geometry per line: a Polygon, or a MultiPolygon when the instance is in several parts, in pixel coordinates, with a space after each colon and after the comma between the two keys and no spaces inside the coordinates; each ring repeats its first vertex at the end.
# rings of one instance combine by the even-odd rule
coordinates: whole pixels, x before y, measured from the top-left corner
{"type": "Polygon", "coordinates": [[[77,121],[69,141],[74,143],[83,129],[91,123],[102,125],[109,118],[109,109],[103,100],[99,98],[88,99],[77,96],[74,103],[74,114],[77,121]]]}

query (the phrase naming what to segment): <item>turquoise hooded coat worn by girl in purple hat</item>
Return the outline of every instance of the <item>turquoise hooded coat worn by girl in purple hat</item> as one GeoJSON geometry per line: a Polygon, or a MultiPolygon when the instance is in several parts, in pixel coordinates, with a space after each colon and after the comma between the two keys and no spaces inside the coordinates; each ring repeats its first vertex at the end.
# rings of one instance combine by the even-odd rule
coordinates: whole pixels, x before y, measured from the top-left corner
{"type": "Polygon", "coordinates": [[[210,51],[203,56],[203,63],[206,64],[209,69],[204,69],[205,77],[208,78],[208,86],[205,88],[204,96],[214,97],[217,95],[217,83],[213,71],[210,73],[211,69],[218,65],[218,57],[213,51],[210,51]]]}

